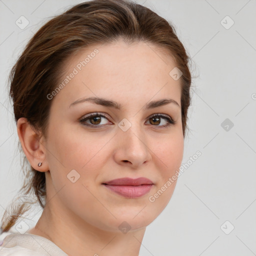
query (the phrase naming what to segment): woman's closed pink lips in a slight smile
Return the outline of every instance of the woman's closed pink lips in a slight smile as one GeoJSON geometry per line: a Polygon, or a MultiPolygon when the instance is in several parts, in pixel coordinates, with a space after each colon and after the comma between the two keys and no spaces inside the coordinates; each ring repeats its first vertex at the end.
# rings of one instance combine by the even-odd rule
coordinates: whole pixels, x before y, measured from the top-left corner
{"type": "Polygon", "coordinates": [[[117,178],[102,183],[115,193],[124,197],[136,198],[148,193],[153,186],[153,182],[144,177],[140,178],[117,178]]]}

